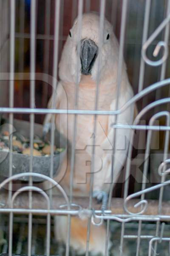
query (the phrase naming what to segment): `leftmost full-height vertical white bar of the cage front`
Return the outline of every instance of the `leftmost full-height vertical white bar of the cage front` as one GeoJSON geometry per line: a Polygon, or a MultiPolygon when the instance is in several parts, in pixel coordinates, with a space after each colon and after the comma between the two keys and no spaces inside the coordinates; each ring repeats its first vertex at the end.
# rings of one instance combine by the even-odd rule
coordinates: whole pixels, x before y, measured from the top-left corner
{"type": "MultiPolygon", "coordinates": [[[[9,106],[10,108],[14,107],[14,57],[15,57],[15,0],[10,1],[10,83],[9,83],[9,106]]],[[[13,120],[14,115],[13,113],[9,114],[9,133],[12,134],[13,132],[13,120]]],[[[12,136],[10,136],[10,152],[9,152],[9,177],[12,176],[12,136]]],[[[12,196],[12,182],[9,183],[8,186],[8,201],[11,203],[11,196],[12,196]]],[[[13,213],[10,212],[9,214],[9,248],[8,254],[9,256],[12,255],[12,233],[13,233],[13,213]]]]}

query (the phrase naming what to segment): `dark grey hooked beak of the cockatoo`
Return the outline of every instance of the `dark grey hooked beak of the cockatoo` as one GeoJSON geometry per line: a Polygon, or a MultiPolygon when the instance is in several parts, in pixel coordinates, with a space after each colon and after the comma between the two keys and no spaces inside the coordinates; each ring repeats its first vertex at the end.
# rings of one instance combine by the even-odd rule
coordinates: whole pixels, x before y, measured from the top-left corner
{"type": "Polygon", "coordinates": [[[98,47],[91,39],[81,40],[80,59],[82,74],[91,75],[91,70],[98,55],[98,47]]]}

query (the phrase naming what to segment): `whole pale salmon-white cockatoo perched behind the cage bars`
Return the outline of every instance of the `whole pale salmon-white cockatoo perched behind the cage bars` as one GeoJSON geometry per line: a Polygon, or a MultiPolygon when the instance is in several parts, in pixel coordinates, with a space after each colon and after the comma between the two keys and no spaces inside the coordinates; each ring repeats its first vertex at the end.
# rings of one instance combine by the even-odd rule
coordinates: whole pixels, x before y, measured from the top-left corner
{"type": "MultiPolygon", "coordinates": [[[[116,101],[120,109],[133,97],[133,90],[128,81],[126,66],[123,62],[119,99],[116,97],[117,73],[118,73],[119,44],[113,33],[113,28],[108,20],[104,20],[103,42],[99,49],[99,15],[86,13],[82,16],[81,40],[78,42],[78,20],[76,19],[70,30],[67,41],[62,51],[59,63],[59,82],[55,92],[55,105],[57,109],[74,109],[77,79],[78,85],[78,109],[95,110],[96,84],[99,81],[99,95],[97,110],[114,111],[116,101]],[[80,44],[78,55],[77,46],[80,44]],[[99,63],[99,51],[100,63],[99,63]],[[80,58],[80,67],[77,69],[77,60],[80,58]],[[99,70],[98,70],[99,69],[99,70]],[[77,74],[78,71],[78,74],[77,74]],[[99,76],[99,77],[98,77],[99,76]]],[[[51,98],[52,99],[52,98],[51,98]]],[[[51,102],[48,108],[51,108],[51,102]]],[[[117,116],[117,122],[131,125],[134,118],[134,105],[130,105],[117,116]]],[[[116,183],[127,157],[130,129],[117,129],[113,163],[113,180],[111,153],[113,148],[112,124],[114,115],[98,115],[96,119],[96,133],[94,134],[94,116],[77,116],[77,133],[75,140],[75,166],[73,193],[79,196],[89,195],[89,179],[91,172],[92,148],[95,146],[94,157],[94,184],[93,196],[98,201],[107,198],[110,183],[116,183]],[[95,145],[94,143],[95,136],[95,145]]],[[[51,114],[45,117],[44,131],[49,127],[51,114]]],[[[68,138],[69,144],[73,143],[74,115],[57,114],[55,117],[56,128],[68,138]]],[[[69,194],[70,164],[68,155],[67,164],[63,162],[61,173],[63,177],[57,180],[69,194]],[[63,169],[62,169],[63,168],[63,169]]],[[[56,217],[55,233],[57,240],[66,242],[67,217],[56,217]]],[[[82,221],[78,217],[71,218],[71,246],[77,253],[85,253],[87,236],[87,220],[82,221]]],[[[105,255],[104,224],[96,227],[91,225],[90,245],[91,253],[105,255]]]]}

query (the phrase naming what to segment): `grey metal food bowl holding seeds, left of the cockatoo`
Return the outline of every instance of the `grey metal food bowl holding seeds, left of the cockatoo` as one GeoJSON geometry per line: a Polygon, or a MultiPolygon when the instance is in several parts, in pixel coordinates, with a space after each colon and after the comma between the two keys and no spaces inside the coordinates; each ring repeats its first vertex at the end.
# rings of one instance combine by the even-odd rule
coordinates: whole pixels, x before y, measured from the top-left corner
{"type": "MultiPolygon", "coordinates": [[[[8,124],[8,120],[5,120],[5,125],[8,124]]],[[[3,125],[1,126],[1,128],[3,125]]],[[[34,124],[34,135],[42,137],[42,128],[40,124],[34,124]]],[[[30,136],[30,122],[20,121],[14,119],[13,135],[17,132],[24,137],[30,136]]],[[[54,154],[54,168],[53,177],[55,177],[59,171],[59,166],[64,160],[67,151],[67,140],[58,131],[55,131],[54,145],[57,148],[64,148],[64,150],[58,154],[54,154]]],[[[50,139],[50,134],[47,134],[47,139],[50,139]]],[[[32,172],[43,174],[50,177],[51,156],[33,156],[33,169],[32,172]]],[[[29,172],[30,168],[30,155],[20,154],[12,152],[12,175],[23,173],[22,181],[28,181],[29,177],[24,177],[24,173],[29,172]]],[[[9,177],[9,152],[0,150],[0,176],[9,177]]],[[[32,177],[34,182],[41,182],[44,179],[41,177],[32,177]]]]}

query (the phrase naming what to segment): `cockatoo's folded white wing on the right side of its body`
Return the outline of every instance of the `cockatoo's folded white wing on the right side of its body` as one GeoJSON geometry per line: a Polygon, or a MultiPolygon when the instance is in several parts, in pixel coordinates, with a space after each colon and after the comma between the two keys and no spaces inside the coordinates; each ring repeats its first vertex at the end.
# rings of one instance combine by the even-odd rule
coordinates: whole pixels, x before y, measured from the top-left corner
{"type": "MultiPolygon", "coordinates": [[[[133,97],[133,91],[129,82],[124,86],[125,90],[121,90],[119,96],[119,108],[121,108],[129,99],[133,97]]],[[[116,99],[111,103],[110,109],[114,111],[116,108],[116,99]]],[[[117,116],[117,123],[124,125],[132,125],[134,118],[135,105],[130,105],[125,111],[117,116]]],[[[108,134],[105,140],[101,144],[103,149],[102,169],[94,174],[94,191],[108,192],[110,183],[116,183],[119,174],[124,166],[127,158],[127,150],[129,145],[130,136],[132,130],[130,129],[113,129],[112,125],[116,121],[116,116],[109,116],[108,119],[108,134]],[[116,132],[116,136],[115,136],[116,132]],[[113,138],[115,136],[115,144],[113,145],[113,138]],[[114,160],[113,160],[113,177],[112,177],[112,148],[114,148],[114,160]]]]}

